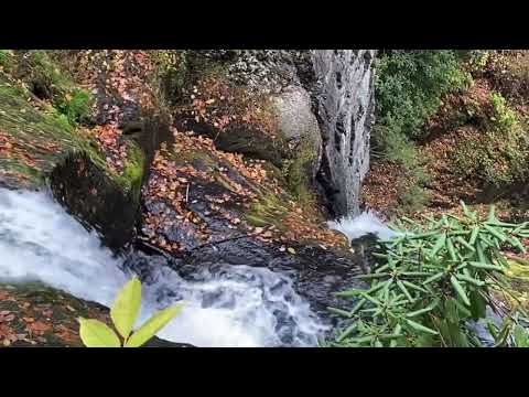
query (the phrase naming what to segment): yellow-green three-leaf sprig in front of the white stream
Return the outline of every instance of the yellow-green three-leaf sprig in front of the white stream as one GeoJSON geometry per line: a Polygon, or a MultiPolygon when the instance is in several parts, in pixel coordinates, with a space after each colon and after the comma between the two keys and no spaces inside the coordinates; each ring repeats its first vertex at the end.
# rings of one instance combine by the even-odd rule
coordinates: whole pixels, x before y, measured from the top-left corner
{"type": "Polygon", "coordinates": [[[133,278],[118,293],[110,318],[118,334],[107,324],[79,318],[79,334],[87,347],[139,347],[152,339],[182,310],[182,303],[159,311],[132,333],[141,305],[141,282],[133,278]]]}

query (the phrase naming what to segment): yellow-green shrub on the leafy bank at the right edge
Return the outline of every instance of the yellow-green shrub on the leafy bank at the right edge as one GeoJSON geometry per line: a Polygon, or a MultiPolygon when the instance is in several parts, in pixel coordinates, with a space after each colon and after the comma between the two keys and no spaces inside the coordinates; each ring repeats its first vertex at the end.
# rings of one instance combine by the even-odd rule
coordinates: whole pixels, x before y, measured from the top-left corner
{"type": "Polygon", "coordinates": [[[456,171],[463,176],[477,175],[485,183],[503,186],[527,174],[529,141],[505,98],[494,93],[490,101],[493,115],[483,120],[479,139],[463,141],[453,155],[456,171]]]}

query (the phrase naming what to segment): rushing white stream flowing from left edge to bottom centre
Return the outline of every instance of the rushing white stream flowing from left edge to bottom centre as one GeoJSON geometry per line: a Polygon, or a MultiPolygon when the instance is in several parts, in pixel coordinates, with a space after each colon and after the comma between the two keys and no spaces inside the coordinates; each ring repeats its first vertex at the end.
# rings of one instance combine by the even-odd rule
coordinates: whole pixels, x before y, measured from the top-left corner
{"type": "MultiPolygon", "coordinates": [[[[0,280],[41,281],[109,307],[133,275],[48,195],[0,189],[0,280]]],[[[158,335],[195,346],[314,346],[325,331],[284,275],[230,266],[184,280],[150,265],[138,325],[185,300],[158,335]]]]}

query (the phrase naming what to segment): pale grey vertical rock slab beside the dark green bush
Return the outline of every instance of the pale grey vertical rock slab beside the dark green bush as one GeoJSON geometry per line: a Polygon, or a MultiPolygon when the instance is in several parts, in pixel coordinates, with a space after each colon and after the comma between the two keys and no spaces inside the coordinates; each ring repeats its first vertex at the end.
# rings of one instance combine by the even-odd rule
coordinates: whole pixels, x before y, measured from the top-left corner
{"type": "Polygon", "coordinates": [[[323,138],[320,176],[336,215],[359,212],[360,185],[369,169],[374,56],[374,50],[314,52],[323,138]]]}

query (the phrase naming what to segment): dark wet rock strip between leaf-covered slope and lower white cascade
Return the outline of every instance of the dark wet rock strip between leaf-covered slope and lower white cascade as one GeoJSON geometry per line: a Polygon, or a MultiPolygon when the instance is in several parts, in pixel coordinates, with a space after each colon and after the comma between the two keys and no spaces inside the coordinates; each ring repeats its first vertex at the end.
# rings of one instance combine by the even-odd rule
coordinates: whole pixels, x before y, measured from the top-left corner
{"type": "Polygon", "coordinates": [[[343,298],[336,298],[334,292],[361,287],[355,276],[361,272],[366,261],[363,255],[320,246],[293,245],[295,254],[292,254],[282,250],[280,244],[251,237],[212,243],[177,256],[150,250],[141,243],[136,248],[129,253],[126,266],[147,283],[155,281],[150,270],[153,264],[168,266],[182,278],[195,282],[205,281],[203,270],[220,275],[231,266],[267,268],[287,275],[293,280],[296,293],[306,299],[311,309],[328,323],[335,319],[330,315],[327,308],[341,308],[348,303],[343,298]]]}

